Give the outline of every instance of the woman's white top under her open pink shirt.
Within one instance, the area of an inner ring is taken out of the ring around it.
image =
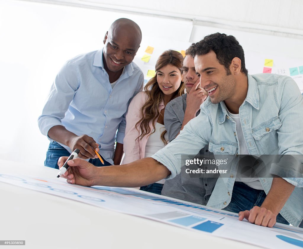
[[[161,134],[165,131],[165,126],[156,123],[155,124],[155,132],[148,136],[148,140],[146,142],[145,146],[145,157],[150,157],[154,155],[158,150],[161,150],[165,147],[165,144],[161,140]],[[164,138],[166,141],[168,141],[168,134],[165,133]],[[157,183],[164,184],[165,180],[162,179],[158,181]]]

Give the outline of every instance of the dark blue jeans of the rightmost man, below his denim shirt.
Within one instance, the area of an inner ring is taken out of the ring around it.
[[[260,207],[266,197],[264,190],[257,190],[248,187],[245,183],[235,182],[232,190],[231,202],[223,210],[239,213],[240,211],[251,210],[254,206]],[[281,214],[278,214],[276,221],[288,224]]]

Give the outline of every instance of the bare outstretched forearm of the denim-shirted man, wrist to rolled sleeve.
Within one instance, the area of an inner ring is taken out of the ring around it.
[[[141,187],[166,178],[171,172],[151,157],[124,164],[99,167],[95,185]]]

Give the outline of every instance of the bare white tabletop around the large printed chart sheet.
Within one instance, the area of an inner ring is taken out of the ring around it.
[[[57,172],[0,160],[0,173],[53,178]],[[0,240],[25,240],[8,248],[260,248],[2,182],[0,200]]]

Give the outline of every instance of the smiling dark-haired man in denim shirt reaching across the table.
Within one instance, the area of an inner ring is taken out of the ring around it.
[[[171,179],[180,173],[182,155],[195,155],[207,144],[211,152],[234,158],[240,152],[298,155],[298,165],[303,163],[303,96],[293,79],[273,74],[248,75],[241,45],[235,37],[225,34],[206,36],[196,44],[194,56],[200,85],[209,98],[175,140],[151,158],[123,166],[96,168],[86,161],[73,160],[68,164],[76,168],[70,167],[64,175],[68,183],[137,187],[165,177]],[[65,160],[61,158],[59,164]],[[218,178],[208,206],[240,208],[239,219],[257,225],[272,227],[278,216],[281,222],[285,218],[299,226],[303,219],[302,173],[298,168],[288,168],[287,162],[272,164],[270,172],[276,177],[236,182],[237,168],[231,167],[228,177]],[[244,208],[239,205],[241,195],[246,195],[243,189],[249,192]]]

